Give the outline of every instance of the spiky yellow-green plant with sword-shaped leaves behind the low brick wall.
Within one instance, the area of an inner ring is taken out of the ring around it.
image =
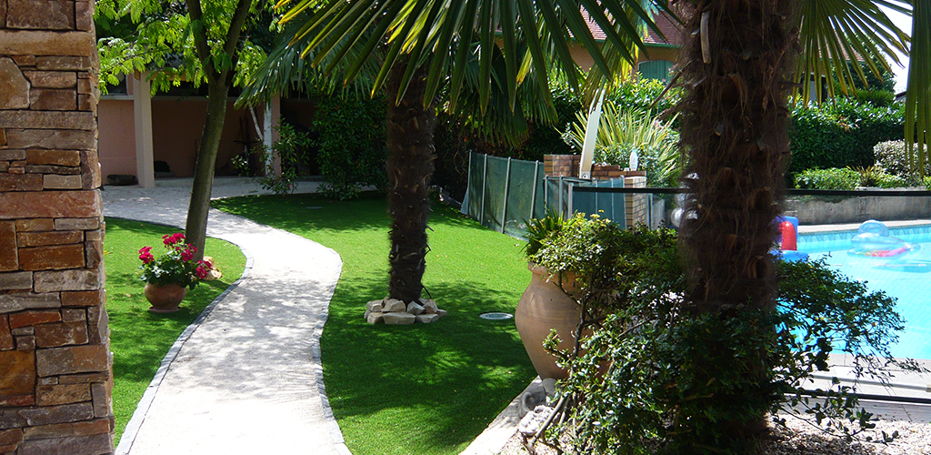
[[[563,136],[576,152],[582,151],[587,124],[588,113],[579,111],[572,129]],[[606,101],[593,162],[627,167],[636,151],[639,169],[646,171],[648,186],[676,186],[682,161],[678,143],[679,133],[672,130],[671,121],[664,123],[649,111],[620,108]]]

